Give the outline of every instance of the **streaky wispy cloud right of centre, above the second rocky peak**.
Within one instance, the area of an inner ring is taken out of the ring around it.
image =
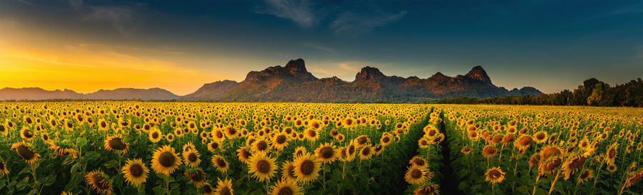
[[[336,34],[352,33],[361,34],[371,31],[373,28],[384,26],[404,17],[407,11],[397,14],[357,14],[354,11],[347,11],[339,14],[331,24]]]

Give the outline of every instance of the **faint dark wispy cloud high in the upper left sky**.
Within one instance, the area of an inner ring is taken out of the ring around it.
[[[134,11],[128,6],[92,6],[92,11],[83,17],[83,21],[109,22],[125,36],[136,31]]]

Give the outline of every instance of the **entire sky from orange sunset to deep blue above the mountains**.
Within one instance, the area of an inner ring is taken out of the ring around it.
[[[204,83],[303,58],[317,78],[464,75],[574,89],[643,76],[643,1],[0,0],[0,88]]]

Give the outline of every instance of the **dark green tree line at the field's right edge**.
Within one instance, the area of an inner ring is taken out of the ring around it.
[[[435,100],[432,103],[643,107],[643,80],[637,78],[612,87],[596,78],[590,78],[574,90],[562,90],[559,93],[489,98],[459,97]]]

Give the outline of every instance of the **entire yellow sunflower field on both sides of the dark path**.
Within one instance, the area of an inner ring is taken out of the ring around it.
[[[642,113],[1,102],[0,194],[641,194]]]

